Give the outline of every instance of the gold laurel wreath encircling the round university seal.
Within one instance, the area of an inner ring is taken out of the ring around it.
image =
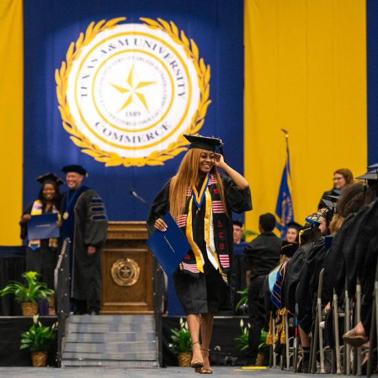
[[[130,166],[162,166],[164,162],[168,159],[172,159],[179,153],[187,151],[188,141],[184,136],[180,136],[176,142],[168,145],[165,151],[154,151],[147,157],[122,157],[118,153],[112,153],[107,151],[102,151],[97,144],[91,143],[91,141],[83,135],[76,126],[76,122],[71,115],[69,110],[69,104],[67,102],[67,85],[69,73],[71,72],[72,65],[75,60],[80,56],[82,47],[88,45],[95,36],[104,31],[115,27],[120,21],[126,20],[126,17],[118,17],[116,19],[111,19],[109,21],[101,20],[98,23],[91,22],[84,33],[80,33],[77,41],[71,42],[66,54],[66,61],[62,62],[60,69],[55,70],[55,81],[56,81],[56,97],[58,99],[58,109],[60,111],[60,116],[62,118],[63,128],[71,136],[69,137],[76,146],[82,148],[81,152],[93,157],[98,162],[102,162],[105,166],[120,166],[125,167]],[[199,49],[196,43],[190,38],[186,37],[183,30],[179,32],[177,26],[173,21],[170,23],[164,21],[163,19],[153,19],[140,18],[144,21],[144,25],[147,25],[151,29],[159,29],[166,32],[176,43],[181,44],[184,47],[186,56],[192,63],[197,71],[197,78],[200,90],[199,103],[197,111],[195,111],[190,122],[190,126],[186,129],[187,134],[198,133],[199,129],[203,126],[205,122],[205,115],[208,110],[208,106],[211,103],[209,100],[210,95],[210,65],[205,65],[203,58],[199,58]]]

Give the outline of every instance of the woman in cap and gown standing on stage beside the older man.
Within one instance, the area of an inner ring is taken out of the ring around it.
[[[36,179],[41,186],[38,199],[27,207],[21,217],[21,238],[27,238],[27,222],[32,215],[45,213],[58,214],[57,225],[60,227],[60,193],[59,186],[63,181],[53,173],[47,173]],[[26,249],[26,271],[36,271],[41,274],[41,280],[50,289],[54,289],[54,269],[58,258],[58,238],[28,240]],[[53,297],[50,298],[49,315],[54,315]]]

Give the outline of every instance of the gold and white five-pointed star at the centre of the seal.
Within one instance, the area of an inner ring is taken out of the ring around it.
[[[126,101],[124,102],[124,104],[118,111],[125,109],[130,104],[135,104],[137,107],[143,107],[149,113],[148,105],[146,102],[146,98],[144,97],[143,91],[146,87],[153,84],[156,84],[156,82],[155,81],[140,81],[138,78],[135,66],[132,65],[129,71],[129,75],[127,76],[125,87],[121,87],[120,85],[115,85],[113,83],[110,83],[110,85],[114,87],[115,89],[117,89],[120,93],[122,94],[127,93]]]

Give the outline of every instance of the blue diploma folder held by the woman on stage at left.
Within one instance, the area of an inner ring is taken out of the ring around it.
[[[56,225],[58,214],[49,212],[41,215],[32,215],[27,222],[27,239],[39,240],[59,237],[59,227]]]

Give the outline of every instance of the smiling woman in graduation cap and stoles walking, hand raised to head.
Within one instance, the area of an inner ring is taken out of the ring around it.
[[[162,217],[169,211],[188,238],[191,249],[173,280],[187,316],[191,365],[199,373],[211,374],[209,346],[214,313],[221,308],[232,309],[231,214],[252,210],[252,201],[247,180],[214,152],[216,146],[222,146],[221,140],[184,136],[190,142],[189,151],[177,174],[157,194],[147,224],[150,232],[154,228],[164,232],[166,223]]]

